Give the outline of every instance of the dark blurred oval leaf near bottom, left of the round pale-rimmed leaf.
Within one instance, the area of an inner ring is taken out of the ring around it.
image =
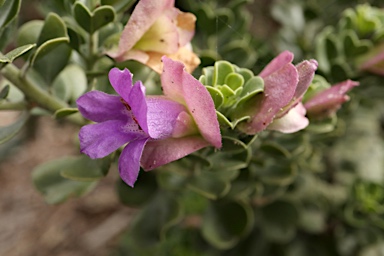
[[[156,193],[131,222],[133,243],[142,248],[156,246],[165,239],[168,229],[181,221],[182,215],[180,203],[173,195]]]

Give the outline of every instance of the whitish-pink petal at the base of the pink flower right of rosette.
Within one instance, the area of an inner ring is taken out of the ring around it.
[[[308,119],[305,117],[305,112],[303,104],[299,103],[285,116],[274,119],[267,129],[282,133],[294,133],[300,131],[309,124]]]

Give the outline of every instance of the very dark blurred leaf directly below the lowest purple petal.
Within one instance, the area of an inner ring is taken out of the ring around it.
[[[152,172],[141,171],[135,183],[130,187],[121,179],[116,184],[120,202],[129,207],[144,206],[158,191],[156,176]]]

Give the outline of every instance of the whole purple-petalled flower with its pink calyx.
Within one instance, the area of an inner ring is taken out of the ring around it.
[[[113,68],[109,80],[118,95],[91,91],[77,100],[83,126],[80,150],[102,158],[127,144],[119,158],[121,178],[133,186],[140,170],[152,170],[203,147],[221,147],[212,98],[184,66],[168,58],[161,76],[165,96],[145,96],[129,70]],[[188,97],[186,97],[188,96]]]

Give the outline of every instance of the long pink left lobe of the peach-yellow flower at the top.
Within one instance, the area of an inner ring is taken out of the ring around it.
[[[164,13],[174,6],[174,0],[141,0],[124,27],[119,42],[119,55],[129,51]]]

